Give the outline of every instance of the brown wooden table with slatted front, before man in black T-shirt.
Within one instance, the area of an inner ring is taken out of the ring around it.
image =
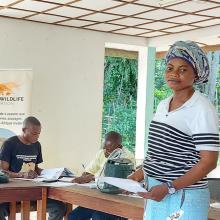
[[[46,220],[47,188],[31,181],[10,180],[0,184],[0,203],[10,202],[9,220],[16,219],[16,201],[21,202],[21,219],[30,218],[30,201],[37,200],[37,219]]]

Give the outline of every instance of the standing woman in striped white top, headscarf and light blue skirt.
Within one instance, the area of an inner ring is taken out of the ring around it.
[[[191,41],[178,41],[166,55],[165,80],[173,95],[150,124],[144,173],[148,184],[144,220],[207,220],[206,175],[217,165],[219,119],[194,84],[205,83],[209,64]]]

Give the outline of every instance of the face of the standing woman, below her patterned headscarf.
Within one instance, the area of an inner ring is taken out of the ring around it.
[[[196,79],[194,69],[183,59],[174,58],[167,64],[165,81],[174,91],[192,88]]]

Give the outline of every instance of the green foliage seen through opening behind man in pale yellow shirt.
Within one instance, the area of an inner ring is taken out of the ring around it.
[[[117,131],[134,152],[136,131],[137,60],[105,57],[102,135]]]

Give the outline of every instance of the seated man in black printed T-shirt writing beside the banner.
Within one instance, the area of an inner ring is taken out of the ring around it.
[[[35,117],[28,117],[23,122],[22,134],[7,139],[0,151],[0,167],[12,178],[35,178],[42,169],[38,167],[43,162],[41,145],[38,138],[41,124]],[[62,220],[66,212],[64,203],[48,199],[48,220]],[[0,204],[0,219],[4,220],[9,214],[9,204]]]

